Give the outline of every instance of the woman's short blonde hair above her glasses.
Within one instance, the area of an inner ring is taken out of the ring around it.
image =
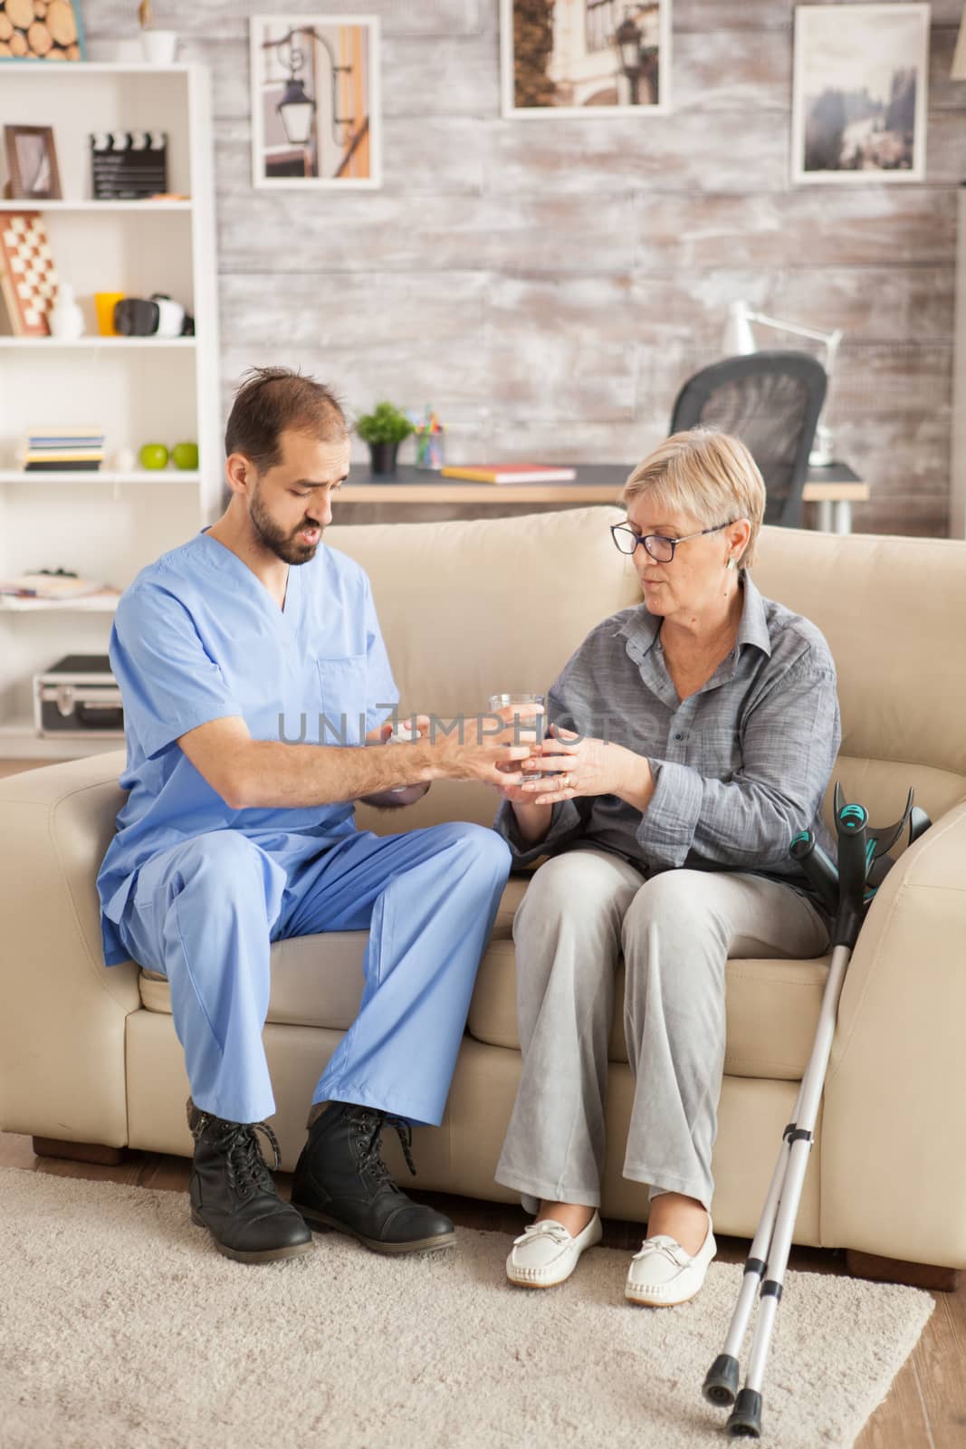
[[[765,481],[743,442],[711,427],[672,433],[639,462],[624,484],[621,501],[650,494],[669,511],[689,513],[702,527],[747,519],[752,536],[739,559],[755,562],[755,543],[765,517]]]

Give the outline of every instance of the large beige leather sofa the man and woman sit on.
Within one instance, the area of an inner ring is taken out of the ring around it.
[[[545,688],[600,619],[639,601],[614,509],[333,527],[368,569],[406,710],[452,716],[495,690]],[[839,665],[837,777],[873,823],[908,785],[934,820],[869,911],[844,985],[801,1243],[966,1264],[966,543],[766,529],[756,581],[811,617]],[[101,959],[94,877],[122,801],[117,752],[0,782],[0,1127],[188,1155],[187,1078],[164,978]],[[398,830],[491,823],[484,787],[434,785]],[[492,1172],[520,1072],[511,878],[485,953],[442,1129],[416,1133],[419,1184],[511,1200]],[[272,951],[265,1026],[284,1166],[361,994],[365,933]],[[827,958],[733,961],[714,1155],[715,1227],[750,1236],[795,1100]],[[611,1039],[604,1208],[646,1216],[621,1178],[631,1077]],[[390,1148],[390,1151],[395,1151]],[[401,1164],[394,1159],[401,1171]]]

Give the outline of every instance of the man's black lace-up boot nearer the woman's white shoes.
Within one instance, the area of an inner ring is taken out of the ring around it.
[[[382,1127],[395,1127],[410,1172],[413,1129],[401,1117],[371,1107],[333,1101],[310,1117],[308,1142],[295,1164],[293,1207],[310,1227],[352,1233],[377,1253],[450,1248],[453,1224],[432,1207],[414,1203],[395,1185],[379,1155]]]

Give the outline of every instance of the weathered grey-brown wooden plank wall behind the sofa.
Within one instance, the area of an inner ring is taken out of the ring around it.
[[[214,77],[226,400],[284,362],[355,412],[432,401],[453,459],[633,462],[746,297],[846,333],[856,527],[947,532],[962,0],[933,4],[927,183],[794,190],[792,0],[675,0],[673,114],[556,122],[500,117],[497,0],[326,0],[382,17],[385,184],[355,196],[251,187],[248,13],[291,6],[154,9]],[[94,39],[132,13],[84,0]]]

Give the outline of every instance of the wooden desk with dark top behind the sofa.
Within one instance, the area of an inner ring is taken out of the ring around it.
[[[617,503],[631,471],[631,465],[575,464],[572,483],[469,483],[461,478],[440,478],[423,468],[401,465],[394,478],[374,478],[365,469],[353,469],[339,490],[339,503],[474,503],[500,507],[510,503],[555,503],[575,507],[582,503]],[[826,532],[852,532],[852,504],[869,497],[869,485],[846,464],[810,468],[805,503],[817,503],[818,526]],[[836,510],[833,513],[833,509]]]

